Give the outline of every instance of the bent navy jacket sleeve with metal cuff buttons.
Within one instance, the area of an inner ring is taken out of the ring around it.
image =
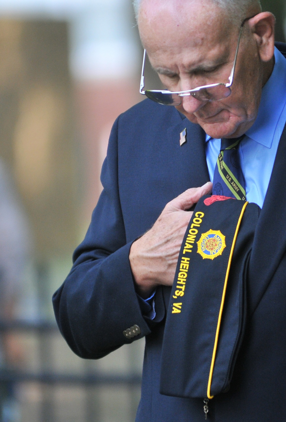
[[[117,177],[118,119],[101,172],[104,190],[84,241],[74,252],[71,272],[53,295],[57,324],[68,345],[79,356],[93,359],[149,334],[156,322],[144,317],[151,306],[136,295],[129,264],[132,242],[126,244]],[[160,305],[161,289],[156,296]],[[157,321],[164,313],[159,308]],[[123,331],[133,325],[141,333],[128,339]]]

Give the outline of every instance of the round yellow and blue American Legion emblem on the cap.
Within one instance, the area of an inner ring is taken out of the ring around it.
[[[223,253],[226,247],[226,237],[220,230],[209,230],[202,233],[201,238],[197,242],[198,254],[204,259],[214,260]]]

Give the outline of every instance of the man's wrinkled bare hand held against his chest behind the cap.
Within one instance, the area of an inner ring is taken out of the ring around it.
[[[153,227],[132,244],[129,260],[142,298],[160,284],[172,286],[181,244],[193,214],[185,210],[211,191],[211,182],[187,189],[167,203]]]

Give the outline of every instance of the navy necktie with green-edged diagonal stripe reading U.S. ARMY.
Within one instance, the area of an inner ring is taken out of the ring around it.
[[[228,196],[245,201],[245,180],[238,155],[238,146],[242,138],[244,135],[240,138],[221,139],[221,151],[218,154],[213,176],[213,195]]]

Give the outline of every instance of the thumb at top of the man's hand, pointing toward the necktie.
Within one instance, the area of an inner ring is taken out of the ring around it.
[[[181,193],[181,195],[177,196],[172,201],[167,203],[164,209],[164,212],[188,210],[189,208],[193,206],[193,204],[196,204],[202,196],[211,192],[212,192],[212,182],[207,182],[201,187],[194,187],[191,189],[187,189],[185,192]]]

